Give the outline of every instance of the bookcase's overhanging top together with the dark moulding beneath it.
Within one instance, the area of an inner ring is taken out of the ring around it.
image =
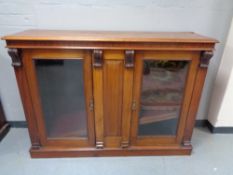
[[[218,41],[193,32],[26,30],[5,36],[8,48],[213,50]]]

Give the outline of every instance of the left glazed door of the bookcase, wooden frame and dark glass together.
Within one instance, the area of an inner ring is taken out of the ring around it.
[[[42,146],[94,146],[91,52],[37,49],[23,56]]]

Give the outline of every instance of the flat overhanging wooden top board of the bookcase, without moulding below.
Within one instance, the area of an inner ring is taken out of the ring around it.
[[[75,30],[25,30],[2,37],[22,41],[100,41],[100,42],[177,42],[217,43],[213,38],[194,32],[123,32]]]

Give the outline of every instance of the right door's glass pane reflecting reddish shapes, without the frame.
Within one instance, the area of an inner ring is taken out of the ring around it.
[[[176,135],[188,61],[145,60],[139,136]]]

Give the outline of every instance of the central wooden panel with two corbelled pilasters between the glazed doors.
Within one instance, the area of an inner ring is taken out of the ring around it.
[[[97,148],[129,146],[133,51],[95,50],[93,80]]]

